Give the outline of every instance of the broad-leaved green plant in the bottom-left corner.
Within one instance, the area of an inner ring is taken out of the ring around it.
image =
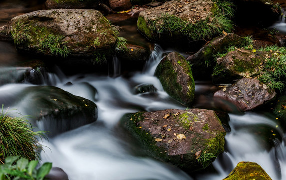
[[[26,158],[19,158],[19,156],[10,156],[5,159],[5,164],[0,165],[0,179],[30,179],[43,180],[49,173],[52,164],[44,163],[41,167],[36,169],[38,161],[29,161]]]

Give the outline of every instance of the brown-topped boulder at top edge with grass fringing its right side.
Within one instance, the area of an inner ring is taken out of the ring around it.
[[[139,14],[137,28],[154,41],[185,42],[231,32],[233,4],[226,0],[165,2]]]

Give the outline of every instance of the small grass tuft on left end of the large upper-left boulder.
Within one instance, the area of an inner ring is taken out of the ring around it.
[[[12,28],[11,34],[14,39],[14,43],[17,45],[31,39],[29,27],[25,26],[21,21],[18,21],[16,26]]]

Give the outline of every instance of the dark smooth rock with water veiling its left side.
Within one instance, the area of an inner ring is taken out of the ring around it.
[[[97,120],[97,106],[92,101],[53,86],[27,87],[20,94],[24,111],[41,130],[54,136]]]

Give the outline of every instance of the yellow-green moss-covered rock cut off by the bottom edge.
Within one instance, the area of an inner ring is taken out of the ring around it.
[[[255,162],[239,162],[237,166],[230,172],[230,174],[223,180],[271,180],[270,176],[265,170]]]

